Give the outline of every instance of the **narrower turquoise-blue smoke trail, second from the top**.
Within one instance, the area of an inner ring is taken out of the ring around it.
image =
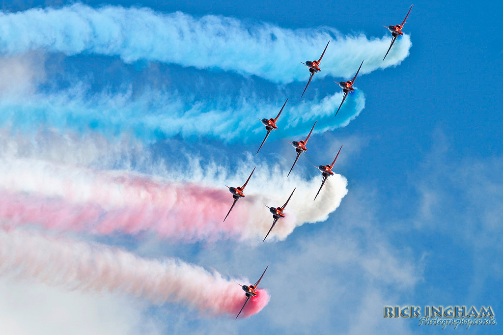
[[[81,134],[97,132],[108,138],[130,134],[144,143],[175,136],[249,143],[265,136],[264,126],[257,118],[276,117],[286,99],[272,103],[250,97],[195,100],[159,91],[139,97],[133,97],[131,92],[88,97],[86,92],[85,88],[74,88],[28,99],[0,99],[0,125],[32,133],[56,128]],[[365,97],[357,91],[335,118],[341,100],[342,92],[319,101],[289,101],[274,136],[303,136],[316,119],[315,133],[346,126],[365,107]]]

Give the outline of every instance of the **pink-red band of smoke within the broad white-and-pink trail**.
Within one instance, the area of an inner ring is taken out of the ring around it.
[[[228,210],[229,198],[232,199],[230,193],[198,189],[197,192],[209,192],[195,197],[187,193],[187,189],[194,186],[184,188],[185,191],[175,196],[178,201],[172,199],[174,206],[145,202],[110,210],[105,210],[97,202],[78,204],[61,198],[0,192],[0,218],[15,225],[40,224],[46,228],[98,234],[115,231],[137,234],[149,230],[157,232],[160,237],[186,241],[240,237],[245,230],[244,222],[221,220],[222,213]],[[246,211],[248,206],[244,204],[242,207],[236,208],[237,215]]]

